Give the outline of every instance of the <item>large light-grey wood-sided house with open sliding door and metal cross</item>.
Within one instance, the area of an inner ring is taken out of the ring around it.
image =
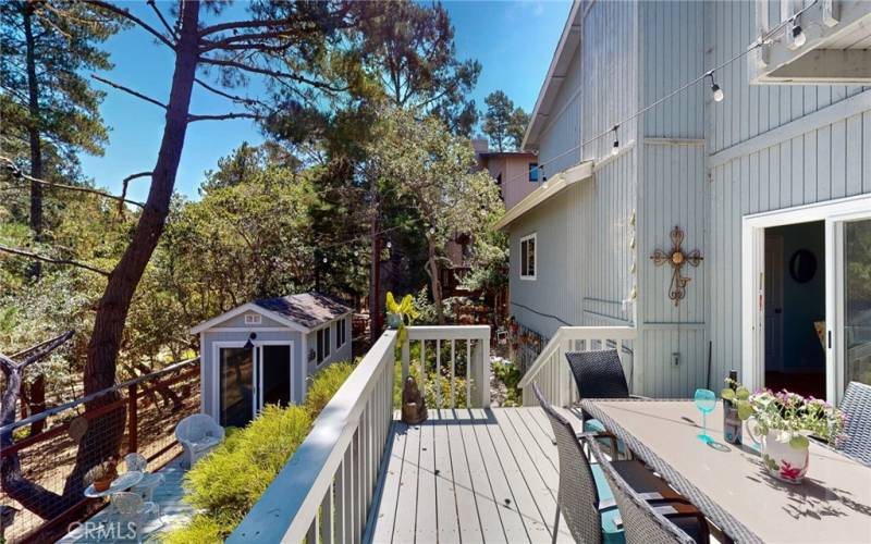
[[[524,141],[547,183],[499,225],[523,326],[636,327],[651,396],[871,381],[871,2],[805,3],[573,5]]]

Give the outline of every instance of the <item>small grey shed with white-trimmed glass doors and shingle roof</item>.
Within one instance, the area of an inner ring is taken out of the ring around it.
[[[199,335],[201,411],[244,426],[267,404],[300,404],[308,376],[351,360],[352,308],[318,293],[255,300],[191,330]]]

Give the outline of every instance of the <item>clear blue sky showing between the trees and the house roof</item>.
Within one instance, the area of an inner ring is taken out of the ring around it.
[[[154,18],[145,2],[130,2],[127,5],[146,21]],[[444,2],[444,5],[455,27],[457,55],[478,59],[483,66],[473,96],[479,110],[483,108],[483,97],[502,89],[515,104],[531,111],[571,2],[455,0]],[[155,45],[137,28],[112,37],[106,47],[115,67],[100,75],[165,101],[173,63],[167,48]],[[101,86],[96,82],[95,85]],[[224,113],[231,110],[225,100],[201,89],[195,90],[192,112]],[[160,145],[162,111],[108,89],[101,113],[111,127],[106,153],[103,157],[83,156],[82,164],[85,174],[98,186],[119,193],[124,176],[154,168]],[[257,126],[249,121],[192,123],[187,129],[176,190],[197,198],[203,173],[214,169],[218,159],[243,140],[255,144],[262,140]],[[146,194],[147,178],[132,182],[132,198],[144,199]]]

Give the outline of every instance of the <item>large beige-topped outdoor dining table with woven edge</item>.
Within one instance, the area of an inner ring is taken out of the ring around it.
[[[697,436],[692,400],[581,400],[581,409],[735,542],[871,542],[871,468],[826,446],[810,446],[801,484],[765,472],[745,432],[723,440],[723,407],[708,415],[707,444]]]

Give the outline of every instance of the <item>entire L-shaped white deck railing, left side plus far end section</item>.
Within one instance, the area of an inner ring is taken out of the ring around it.
[[[413,343],[421,343],[421,361],[427,344],[434,345],[439,372],[450,379],[445,382],[450,390],[438,404],[453,407],[459,396],[454,380],[456,354],[465,348],[466,357],[459,361],[466,362],[467,375],[473,378],[467,398],[473,407],[489,405],[489,326],[407,330],[408,338],[401,346],[404,375],[409,371]],[[396,336],[395,331],[387,331],[366,354],[229,543],[365,541],[385,466],[382,461],[394,409],[398,408],[393,405]],[[441,346],[446,342],[451,343],[451,356],[442,362]]]

